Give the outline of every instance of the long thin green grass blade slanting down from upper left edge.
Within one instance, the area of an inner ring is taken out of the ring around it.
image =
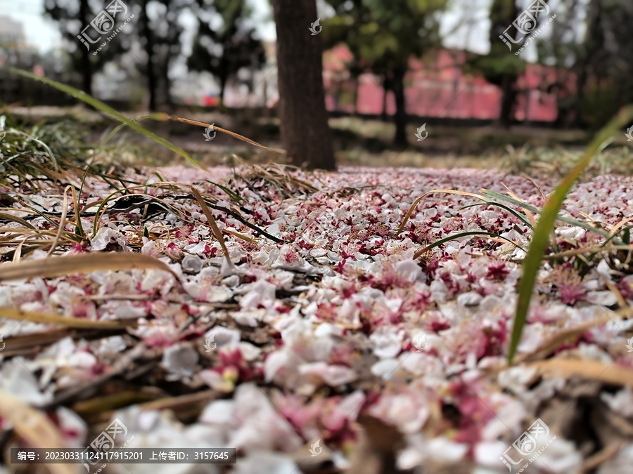
[[[74,87],[68,86],[66,84],[62,84],[62,83],[60,83],[58,81],[53,81],[52,79],[48,79],[47,77],[39,77],[39,76],[36,76],[35,74],[32,74],[30,72],[23,71],[23,70],[20,70],[20,69],[16,69],[15,67],[4,67],[4,68],[0,68],[0,69],[6,69],[6,70],[8,70],[10,72],[13,72],[15,74],[20,74],[20,76],[26,77],[27,79],[32,79],[34,81],[43,82],[44,84],[48,84],[49,86],[52,86],[52,87],[58,89],[58,91],[62,91],[62,92],[65,92],[67,94],[70,94],[72,97],[74,97],[76,99],[79,99],[82,102],[87,103],[88,105],[91,105],[96,110],[99,110],[99,111],[103,112],[104,114],[110,115],[110,117],[113,117],[113,119],[117,119],[122,124],[125,124],[125,125],[129,126],[130,129],[132,129],[134,131],[137,131],[137,132],[141,133],[142,135],[146,136],[147,138],[151,138],[151,140],[154,140],[156,143],[160,143],[160,145],[163,145],[163,146],[169,148],[170,150],[172,150],[172,152],[176,152],[181,157],[184,157],[184,158],[188,159],[189,162],[191,162],[191,163],[195,164],[196,166],[198,166],[198,168],[202,168],[202,166],[200,166],[200,164],[195,159],[190,157],[189,154],[185,150],[183,150],[181,147],[177,147],[176,145],[174,145],[170,141],[165,140],[165,138],[159,137],[155,133],[153,133],[153,132],[149,131],[148,129],[144,128],[143,126],[137,124],[134,120],[130,120],[127,117],[124,117],[124,115],[122,115],[120,112],[117,112],[117,110],[113,109],[113,107],[110,107],[109,105],[104,104],[103,102],[101,102],[101,100],[98,100],[98,99],[96,99],[94,97],[89,96],[84,91],[79,91],[79,89],[76,89]],[[168,116],[165,115],[164,118],[167,119]]]

